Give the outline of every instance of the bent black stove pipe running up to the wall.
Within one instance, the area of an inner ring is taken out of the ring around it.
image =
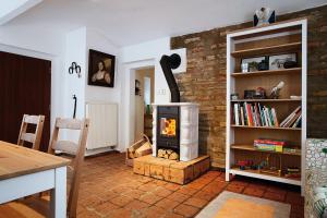
[[[171,56],[162,56],[160,59],[160,65],[171,93],[171,102],[180,102],[180,89],[171,71],[171,69],[179,68],[180,64],[181,57],[177,53]]]

